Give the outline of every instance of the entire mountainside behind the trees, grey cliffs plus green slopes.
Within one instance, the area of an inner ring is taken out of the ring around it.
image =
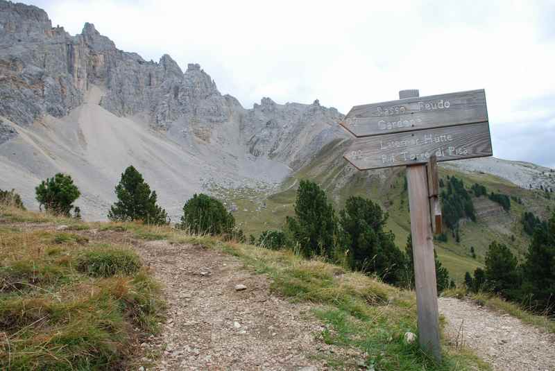
[[[15,188],[32,209],[37,184],[63,172],[82,193],[76,205],[84,218],[105,219],[115,184],[133,164],[173,221],[203,191],[233,209],[246,234],[257,234],[283,226],[298,181],[309,178],[336,209],[353,195],[378,202],[403,246],[410,231],[404,171],[350,166],[343,154],[352,138],[341,119],[317,99],[278,104],[264,97],[246,109],[198,64],[183,72],[167,54],[146,61],[117,49],[93,24],[69,35],[44,10],[0,0],[0,189]],[[555,189],[552,169],[488,157],[441,164],[440,176],[452,175],[513,200],[507,212],[475,198],[477,222],[461,221],[461,242],[436,241],[458,280],[483,265],[493,240],[522,257],[529,243],[522,214],[546,218],[555,209],[545,191]]]

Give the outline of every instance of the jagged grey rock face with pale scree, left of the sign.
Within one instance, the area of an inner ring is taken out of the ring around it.
[[[198,64],[184,73],[169,55],[146,61],[93,24],[69,35],[44,10],[4,0],[0,97],[0,188],[19,188],[33,205],[38,180],[71,173],[88,218],[105,216],[129,164],[178,214],[178,204],[214,184],[273,187],[346,137],[342,115],[317,100],[262,98],[245,109]]]

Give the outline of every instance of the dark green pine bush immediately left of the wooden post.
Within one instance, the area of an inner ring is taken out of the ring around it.
[[[352,270],[375,273],[400,284],[407,263],[392,232],[384,232],[388,214],[371,200],[350,197],[339,213],[339,241]]]

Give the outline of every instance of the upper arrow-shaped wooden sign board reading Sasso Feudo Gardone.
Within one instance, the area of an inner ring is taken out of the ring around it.
[[[484,89],[355,105],[341,125],[355,137],[488,121]]]

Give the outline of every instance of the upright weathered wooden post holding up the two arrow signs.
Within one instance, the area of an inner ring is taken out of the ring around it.
[[[399,92],[400,99],[413,97],[418,97],[418,90]],[[422,350],[431,354],[439,362],[441,361],[441,347],[439,344],[438,293],[426,165],[407,166],[407,183],[411,208],[418,340]]]

